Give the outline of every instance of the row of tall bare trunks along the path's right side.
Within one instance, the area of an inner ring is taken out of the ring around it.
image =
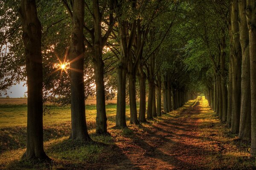
[[[217,38],[218,54],[209,49],[214,74],[207,82],[207,99],[232,133],[238,133],[239,139],[251,140],[250,151],[255,156],[256,2],[231,0],[226,3],[228,6],[223,4],[212,12],[223,18],[224,27],[213,33]],[[208,43],[209,39],[205,39]]]

